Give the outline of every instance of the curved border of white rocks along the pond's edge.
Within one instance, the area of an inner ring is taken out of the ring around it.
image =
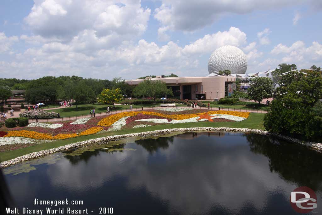
[[[278,137],[280,139],[283,139],[283,140],[286,140],[286,141],[289,141],[289,142],[298,143],[298,144],[307,146],[307,147],[309,147],[309,148],[311,148],[313,150],[322,152],[322,143],[300,141],[300,140],[298,140],[296,138],[291,138],[291,137],[287,137],[287,136],[284,136],[284,135],[274,134],[274,133],[270,133],[270,132],[259,130],[259,129],[225,128],[225,127],[220,127],[220,128],[213,128],[213,127],[172,128],[172,129],[162,129],[162,130],[149,131],[149,132],[138,132],[138,133],[130,133],[130,134],[112,135],[112,136],[107,136],[107,137],[100,137],[100,138],[96,138],[96,139],[91,139],[91,140],[71,143],[71,144],[60,146],[60,147],[53,148],[53,149],[32,152],[32,153],[29,153],[29,154],[26,154],[26,155],[11,159],[9,161],[3,161],[3,162],[0,163],[0,167],[1,168],[9,167],[9,166],[12,166],[14,164],[20,163],[22,161],[28,161],[28,160],[43,157],[45,155],[52,154],[52,153],[55,153],[55,152],[65,151],[65,150],[68,150],[68,149],[72,149],[72,148],[76,148],[76,147],[79,147],[79,146],[92,144],[92,143],[115,141],[115,140],[119,140],[119,139],[122,139],[122,138],[133,137],[133,136],[148,137],[148,136],[164,135],[164,134],[168,134],[170,132],[197,132],[197,131],[205,131],[205,132],[207,132],[207,131],[209,131],[209,132],[244,132],[244,133],[252,132],[252,133],[257,133],[257,134],[262,134],[262,135],[272,135],[272,136]]]

